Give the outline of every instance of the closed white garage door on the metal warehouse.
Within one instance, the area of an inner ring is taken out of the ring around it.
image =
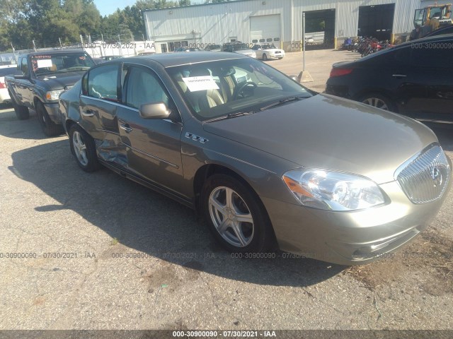
[[[280,41],[281,31],[280,14],[250,17],[250,35],[252,42]]]

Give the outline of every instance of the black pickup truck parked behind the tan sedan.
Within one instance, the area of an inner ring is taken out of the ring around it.
[[[58,97],[94,64],[93,59],[83,51],[44,51],[21,55],[17,69],[22,74],[5,77],[18,119],[28,119],[28,109],[35,109],[42,131],[47,136],[62,133]]]

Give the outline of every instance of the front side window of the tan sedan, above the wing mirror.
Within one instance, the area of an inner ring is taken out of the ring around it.
[[[141,105],[164,102],[168,107],[168,95],[159,78],[141,67],[127,67],[123,102],[129,107],[139,109]]]

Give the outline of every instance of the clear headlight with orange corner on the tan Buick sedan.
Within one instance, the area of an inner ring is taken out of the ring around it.
[[[295,169],[283,181],[302,205],[322,210],[362,210],[385,203],[377,184],[352,174]]]

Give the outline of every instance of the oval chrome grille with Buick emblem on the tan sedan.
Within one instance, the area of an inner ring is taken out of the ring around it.
[[[447,189],[449,162],[440,145],[430,145],[415,159],[406,162],[396,179],[413,203],[430,203]]]

